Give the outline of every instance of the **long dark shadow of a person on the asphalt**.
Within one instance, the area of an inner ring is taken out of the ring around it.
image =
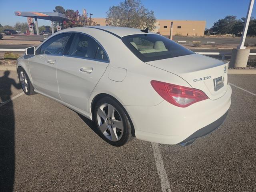
[[[0,99],[4,103],[11,99],[14,86],[21,89],[20,84],[9,78],[5,71],[0,77]],[[0,103],[1,104],[1,103]],[[14,187],[15,173],[15,118],[13,103],[10,100],[0,108],[0,191],[11,192]]]

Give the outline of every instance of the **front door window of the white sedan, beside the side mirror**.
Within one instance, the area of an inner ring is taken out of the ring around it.
[[[40,54],[63,55],[64,48],[71,33],[62,33],[53,36],[40,47]]]

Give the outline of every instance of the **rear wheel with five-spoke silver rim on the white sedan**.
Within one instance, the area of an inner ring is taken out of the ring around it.
[[[99,135],[110,145],[123,146],[132,139],[132,126],[128,115],[123,106],[114,99],[104,97],[98,100],[93,116]]]

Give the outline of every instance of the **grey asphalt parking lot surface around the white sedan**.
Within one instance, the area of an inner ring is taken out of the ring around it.
[[[158,144],[166,191],[256,190],[256,75],[228,81],[244,90],[232,86],[216,131],[184,148]],[[0,104],[0,191],[162,191],[152,143],[110,146],[90,120],[39,94],[20,94],[17,82],[16,72],[0,71],[0,102],[14,98]]]

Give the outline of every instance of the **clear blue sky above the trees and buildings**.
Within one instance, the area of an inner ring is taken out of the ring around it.
[[[15,16],[14,11],[53,12],[55,6],[65,9],[86,9],[92,17],[106,17],[111,6],[124,0],[0,0],[0,24],[14,26],[16,22],[26,22],[26,17]],[[206,28],[227,15],[246,17],[250,0],[141,0],[142,4],[153,10],[156,19],[206,20]],[[252,10],[256,18],[256,3]],[[38,19],[38,25],[50,25],[50,21]]]

